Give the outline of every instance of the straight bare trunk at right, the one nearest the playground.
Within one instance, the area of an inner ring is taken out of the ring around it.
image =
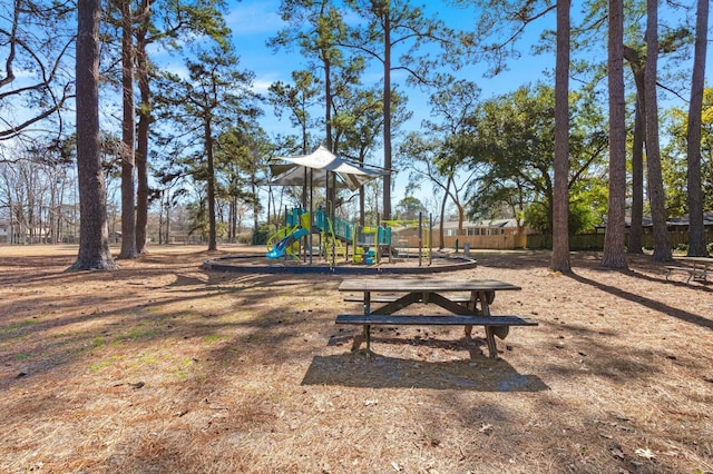
[[[557,68],[555,72],[555,190],[553,255],[555,271],[570,271],[569,263],[569,0],[557,0]]]

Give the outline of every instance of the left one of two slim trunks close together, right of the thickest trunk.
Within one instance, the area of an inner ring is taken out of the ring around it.
[[[134,21],[129,0],[121,3],[121,251],[119,258],[136,258],[136,187],[134,185]]]

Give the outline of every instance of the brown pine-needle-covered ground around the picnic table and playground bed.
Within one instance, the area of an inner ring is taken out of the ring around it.
[[[498,361],[481,328],[384,328],[367,358],[341,277],[201,267],[246,250],[68,274],[76,248],[0,247],[0,472],[713,472],[711,284],[482,253],[438,277],[519,285],[492,312],[538,327]]]

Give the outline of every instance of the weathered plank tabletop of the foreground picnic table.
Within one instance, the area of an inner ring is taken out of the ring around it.
[[[339,286],[340,292],[495,292],[518,290],[519,286],[495,279],[446,279],[446,278],[348,278]]]

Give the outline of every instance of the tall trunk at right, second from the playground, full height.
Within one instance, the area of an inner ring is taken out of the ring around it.
[[[609,0],[609,205],[602,266],[627,268],[624,258],[626,126],[624,98],[624,2]]]

